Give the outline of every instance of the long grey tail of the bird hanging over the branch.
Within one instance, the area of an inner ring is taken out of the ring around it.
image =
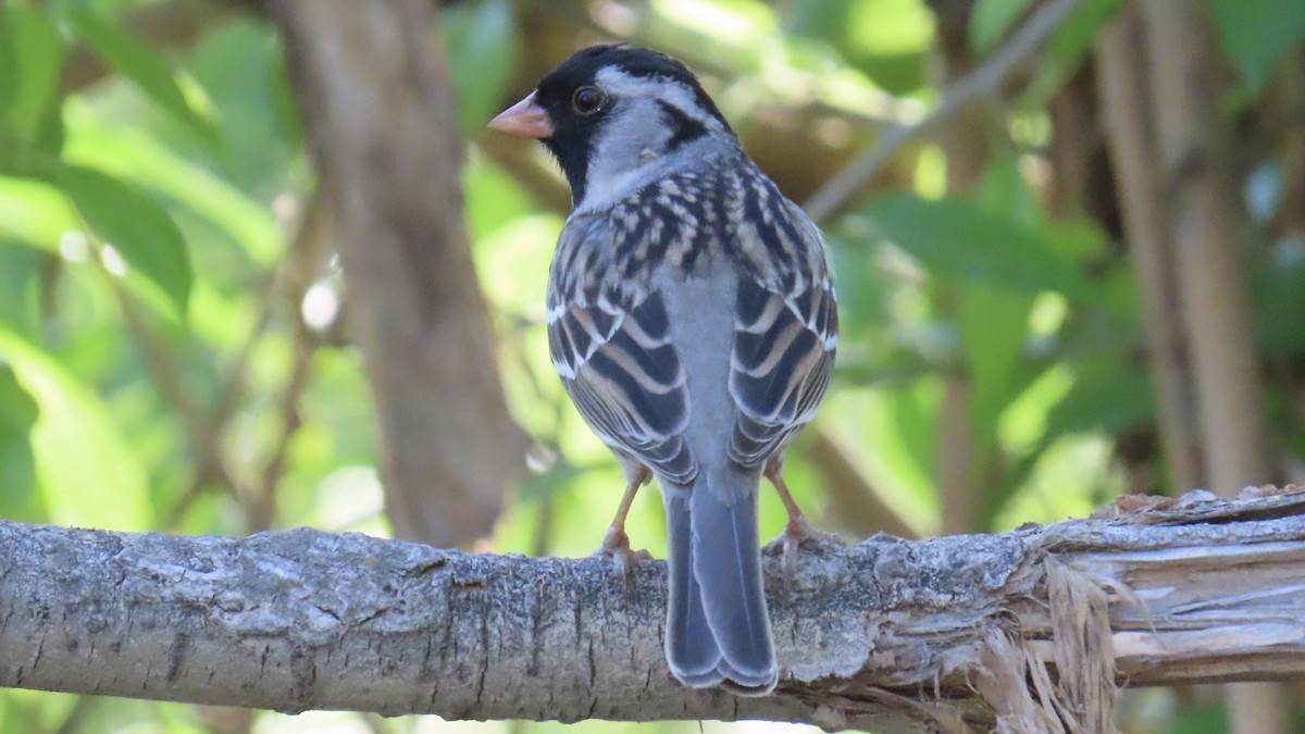
[[[688,491],[662,492],[669,537],[666,657],[686,686],[762,696],[774,690],[779,667],[761,577],[756,482],[707,482],[702,473]]]

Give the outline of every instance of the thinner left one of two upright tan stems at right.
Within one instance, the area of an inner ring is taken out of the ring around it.
[[[1142,25],[1134,5],[1103,29],[1096,44],[1098,88],[1120,189],[1125,240],[1138,273],[1147,358],[1160,407],[1160,440],[1181,494],[1203,485],[1197,400],[1173,269],[1173,246],[1160,205],[1154,111],[1146,80]]]

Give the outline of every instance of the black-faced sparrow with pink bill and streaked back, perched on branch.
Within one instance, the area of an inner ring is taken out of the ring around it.
[[[658,51],[582,48],[488,127],[539,140],[570,185],[545,319],[566,393],[625,473],[602,550],[629,554],[626,512],[656,477],[671,674],[770,694],[757,498],[766,477],[786,543],[812,537],[782,469],[838,347],[821,232],[693,72]]]

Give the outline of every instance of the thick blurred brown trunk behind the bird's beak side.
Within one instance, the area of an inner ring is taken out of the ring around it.
[[[277,0],[334,206],[399,537],[466,546],[493,524],[525,439],[508,417],[462,214],[448,69],[422,0]]]

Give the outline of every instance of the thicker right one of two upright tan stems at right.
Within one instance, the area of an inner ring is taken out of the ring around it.
[[[1156,99],[1161,204],[1171,213],[1208,477],[1228,495],[1270,477],[1248,283],[1236,252],[1241,217],[1216,97],[1218,55],[1203,4],[1146,0],[1141,9]],[[1267,684],[1231,684],[1233,731],[1287,731],[1279,692]]]

